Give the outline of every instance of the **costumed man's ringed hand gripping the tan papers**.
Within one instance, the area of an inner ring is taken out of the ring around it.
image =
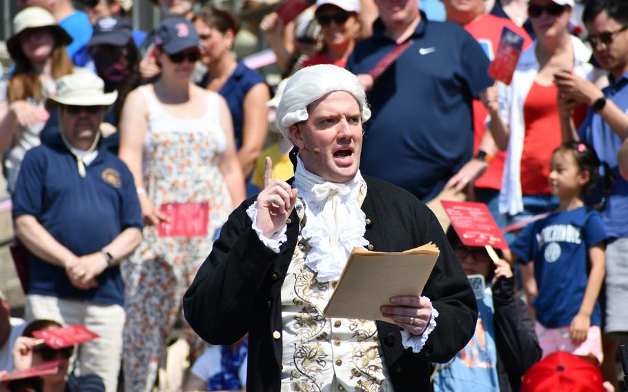
[[[426,297],[392,297],[391,304],[380,308],[382,315],[413,335],[422,335],[432,316],[432,303]]]

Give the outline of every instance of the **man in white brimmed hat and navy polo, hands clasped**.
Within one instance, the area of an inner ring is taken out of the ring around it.
[[[100,335],[78,352],[81,374],[116,391],[122,353],[124,284],[119,262],[141,241],[133,176],[99,144],[117,92],[88,72],[57,81],[54,141],[26,153],[12,195],[15,233],[29,251],[26,319],[84,324]]]

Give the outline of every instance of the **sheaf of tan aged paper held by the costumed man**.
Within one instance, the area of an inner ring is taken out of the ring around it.
[[[380,306],[397,295],[421,295],[439,253],[432,243],[405,252],[353,249],[325,317],[392,322]]]

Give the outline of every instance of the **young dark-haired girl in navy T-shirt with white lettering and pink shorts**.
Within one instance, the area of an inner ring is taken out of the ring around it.
[[[565,351],[602,362],[598,294],[604,280],[608,235],[597,210],[583,197],[598,183],[600,159],[585,143],[570,141],[553,151],[549,186],[559,199],[554,213],[529,224],[511,250],[533,262],[527,285],[543,355]]]

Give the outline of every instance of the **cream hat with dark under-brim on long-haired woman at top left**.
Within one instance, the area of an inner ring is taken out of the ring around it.
[[[48,10],[41,7],[28,7],[18,12],[13,18],[13,35],[6,41],[6,47],[13,59],[21,53],[19,35],[29,28],[50,28],[55,35],[57,45],[70,45],[72,37],[57,24],[55,17]]]

